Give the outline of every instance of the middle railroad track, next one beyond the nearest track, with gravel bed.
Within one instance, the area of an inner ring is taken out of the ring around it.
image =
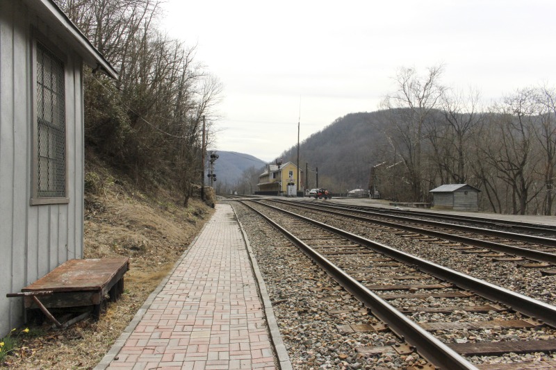
[[[281,201],[265,199],[265,203],[277,203],[283,206],[302,208],[309,212],[325,212],[327,215],[346,217],[357,221],[366,221],[384,227],[384,231],[402,230],[400,236],[411,238],[430,238],[437,244],[460,251],[461,253],[475,253],[496,261],[513,261],[525,268],[543,269],[543,274],[556,274],[556,239],[509,233],[500,230],[490,230],[445,224],[438,221],[409,219],[408,217],[391,216],[385,219],[382,215],[368,210],[353,210],[340,205],[300,203],[299,201]],[[440,242],[441,240],[445,242]],[[448,242],[448,243],[446,243]],[[450,244],[451,243],[451,244]],[[513,245],[512,245],[513,244]],[[492,253],[496,252],[496,253]]]

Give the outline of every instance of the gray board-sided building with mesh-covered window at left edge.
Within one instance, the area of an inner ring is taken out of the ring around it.
[[[117,73],[51,0],[0,0],[0,337],[8,292],[83,258],[83,63]]]

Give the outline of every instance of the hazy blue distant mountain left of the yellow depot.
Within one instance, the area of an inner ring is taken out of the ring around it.
[[[246,169],[255,167],[263,170],[265,161],[253,155],[238,153],[236,151],[215,151],[218,159],[214,162],[214,173],[219,184],[235,184],[242,180],[243,172]],[[209,154],[210,155],[210,152]],[[208,173],[208,165],[206,172]]]

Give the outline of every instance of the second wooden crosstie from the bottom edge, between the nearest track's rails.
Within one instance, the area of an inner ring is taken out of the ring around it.
[[[504,353],[555,352],[556,339],[520,342],[477,342],[449,343],[448,346],[460,355],[497,356]]]

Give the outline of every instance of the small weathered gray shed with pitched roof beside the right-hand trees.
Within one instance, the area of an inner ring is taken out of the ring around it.
[[[471,185],[441,185],[430,192],[433,196],[432,209],[434,210],[479,211],[480,190]]]

